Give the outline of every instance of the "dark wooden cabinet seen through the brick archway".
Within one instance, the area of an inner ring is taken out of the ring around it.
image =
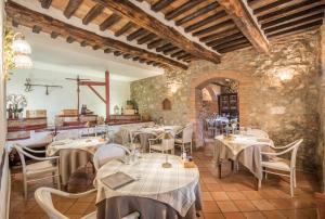
[[[238,116],[238,95],[237,93],[226,93],[219,95],[219,112],[232,117]]]

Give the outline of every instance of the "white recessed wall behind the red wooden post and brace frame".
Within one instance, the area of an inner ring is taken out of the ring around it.
[[[103,73],[104,76],[104,73]],[[63,108],[76,108],[77,86],[75,81],[65,78],[75,78],[76,74],[56,72],[55,69],[20,69],[14,70],[11,80],[6,86],[6,93],[24,94],[27,98],[27,110],[47,110],[48,123],[53,124],[54,116]],[[104,78],[82,76],[93,81],[104,81]],[[46,88],[35,87],[34,91],[25,92],[25,80],[30,78],[32,83],[60,85],[62,89],[50,89],[50,94],[46,95]],[[95,88],[105,98],[104,87]],[[87,104],[88,108],[95,114],[105,117],[105,104],[88,88],[80,88],[80,104]],[[130,82],[110,79],[110,112],[115,105],[123,105],[130,98]],[[25,114],[25,112],[24,112]]]

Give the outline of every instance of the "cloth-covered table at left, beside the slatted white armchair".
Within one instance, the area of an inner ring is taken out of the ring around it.
[[[67,185],[69,177],[80,167],[92,162],[96,149],[107,143],[100,137],[65,139],[53,141],[47,146],[47,156],[60,156],[61,182]]]

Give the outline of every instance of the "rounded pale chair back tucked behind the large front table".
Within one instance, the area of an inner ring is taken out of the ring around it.
[[[102,145],[93,155],[93,166],[98,170],[107,162],[115,158],[123,157],[127,154],[130,154],[130,151],[123,145],[113,143]]]

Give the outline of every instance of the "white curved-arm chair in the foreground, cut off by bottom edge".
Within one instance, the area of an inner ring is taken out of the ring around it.
[[[63,215],[57,209],[55,209],[52,201],[52,194],[55,194],[61,197],[67,197],[67,198],[82,198],[95,192],[96,190],[90,190],[79,194],[72,194],[72,193],[54,190],[51,188],[39,188],[35,192],[35,199],[37,204],[46,211],[46,214],[49,216],[50,219],[69,219],[67,216]],[[140,214],[138,211],[134,211],[123,217],[122,219],[136,219],[139,217]],[[96,211],[93,211],[88,214],[87,216],[81,217],[80,219],[95,219],[95,218],[96,218]]]

